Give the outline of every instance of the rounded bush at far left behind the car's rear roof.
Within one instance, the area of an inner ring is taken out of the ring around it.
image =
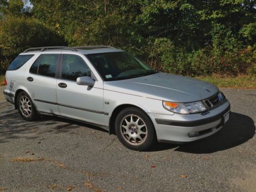
[[[0,21],[0,26],[0,73],[27,48],[66,44],[34,18],[8,16]]]

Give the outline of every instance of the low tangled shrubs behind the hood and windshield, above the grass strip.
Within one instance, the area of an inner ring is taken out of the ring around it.
[[[147,63],[152,68],[166,73],[190,76],[255,74],[256,51],[250,46],[232,50],[207,46],[188,52],[176,47],[167,38],[158,38],[154,43],[150,43],[146,50],[149,55]]]

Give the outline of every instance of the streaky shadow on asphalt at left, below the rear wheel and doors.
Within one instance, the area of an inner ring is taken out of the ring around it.
[[[3,103],[2,105],[3,106]],[[0,112],[0,143],[10,142],[13,139],[39,139],[44,133],[74,133],[79,127],[88,127],[94,130],[107,132],[98,126],[61,117],[43,115],[34,121],[25,121],[20,117],[12,105]],[[33,136],[31,135],[33,134]]]

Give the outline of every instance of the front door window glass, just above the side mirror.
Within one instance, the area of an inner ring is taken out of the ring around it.
[[[77,55],[64,54],[62,59],[61,78],[76,80],[77,77],[90,76],[91,70],[84,60]]]

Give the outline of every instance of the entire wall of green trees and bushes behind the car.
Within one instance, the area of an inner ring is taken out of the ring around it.
[[[30,2],[32,9],[25,8],[24,1],[0,0],[2,63],[28,47],[67,42],[69,46],[111,45],[168,73],[255,73],[252,0]]]

